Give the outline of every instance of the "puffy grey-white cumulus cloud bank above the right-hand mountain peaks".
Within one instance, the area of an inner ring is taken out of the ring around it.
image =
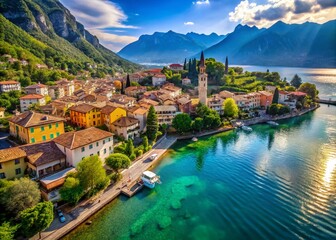
[[[258,27],[268,27],[279,20],[323,23],[335,16],[336,0],[267,0],[264,4],[244,0],[229,13],[230,21]]]

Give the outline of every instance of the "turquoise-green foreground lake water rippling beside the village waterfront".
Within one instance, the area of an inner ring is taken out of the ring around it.
[[[280,123],[179,142],[66,239],[336,239],[336,107]]]

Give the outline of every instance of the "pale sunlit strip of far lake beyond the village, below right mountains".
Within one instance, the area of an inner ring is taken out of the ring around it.
[[[335,68],[291,68],[291,67],[265,67],[265,66],[241,66],[244,71],[279,72],[282,79],[292,80],[298,74],[303,82],[314,83],[320,91],[319,97],[328,100],[336,100],[336,69]]]

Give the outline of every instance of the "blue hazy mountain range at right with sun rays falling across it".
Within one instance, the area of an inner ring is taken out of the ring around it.
[[[268,29],[238,25],[220,43],[205,50],[206,57],[230,63],[336,67],[336,20],[316,24],[285,24]]]

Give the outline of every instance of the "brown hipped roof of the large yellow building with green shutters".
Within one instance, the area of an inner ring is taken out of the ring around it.
[[[9,119],[9,121],[22,127],[32,127],[61,122],[65,121],[65,119],[33,111],[27,111],[20,115],[12,117],[11,119]]]

